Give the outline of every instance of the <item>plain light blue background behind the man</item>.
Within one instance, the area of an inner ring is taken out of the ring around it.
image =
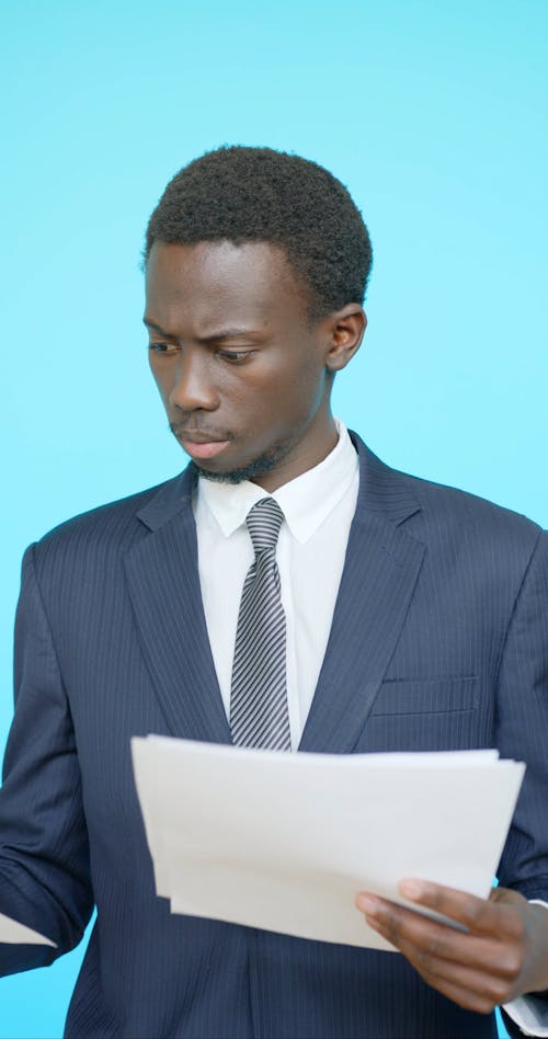
[[[295,150],[363,209],[346,423],[548,524],[545,0],[16,0],[1,21],[0,744],[24,547],[181,467],[138,264],[165,182],[206,149]],[[60,1035],[82,948],[0,983],[2,1039]]]

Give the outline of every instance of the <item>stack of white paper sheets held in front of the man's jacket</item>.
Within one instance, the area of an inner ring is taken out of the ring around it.
[[[133,740],[159,894],[175,913],[392,949],[354,907],[422,877],[487,895],[524,765],[496,751],[283,754]]]

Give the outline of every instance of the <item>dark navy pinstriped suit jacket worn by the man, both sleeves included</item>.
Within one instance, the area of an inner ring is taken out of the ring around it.
[[[300,750],[496,745],[525,760],[499,879],[548,899],[547,537],[354,443],[359,498]],[[130,738],[230,742],[193,479],[72,520],[25,556],[0,912],[58,949],[0,945],[0,971],[72,948],[95,903],[68,1036],[494,1036],[492,1015],[429,989],[400,955],[172,916],[156,897]]]

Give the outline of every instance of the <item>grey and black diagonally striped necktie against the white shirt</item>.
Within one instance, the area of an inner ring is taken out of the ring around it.
[[[284,514],[262,498],[247,517],[255,558],[248,571],[238,615],[230,728],[239,746],[292,749],[285,675],[285,614],[279,595],[276,546]]]

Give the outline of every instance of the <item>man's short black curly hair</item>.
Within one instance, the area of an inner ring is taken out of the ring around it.
[[[373,254],[362,214],[346,187],[308,159],[239,145],[194,159],[150,217],[145,263],[155,241],[224,240],[284,249],[313,318],[364,299]]]

